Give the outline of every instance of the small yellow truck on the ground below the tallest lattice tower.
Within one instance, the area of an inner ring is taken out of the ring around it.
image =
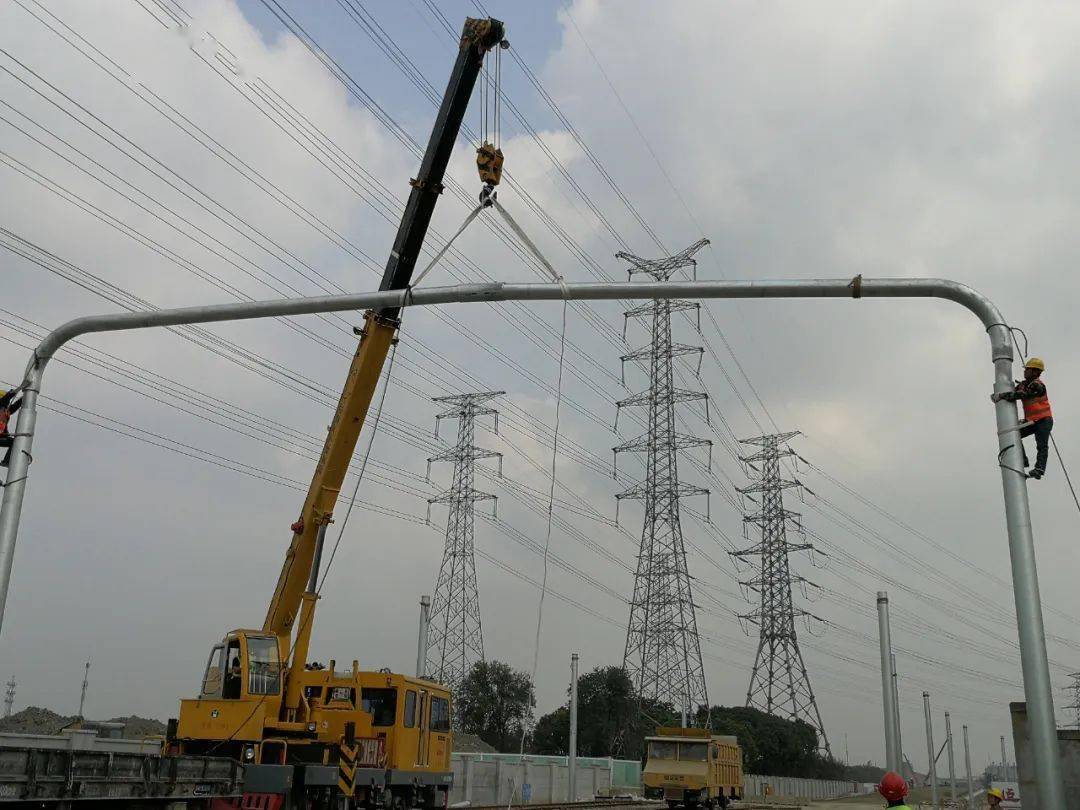
[[[674,808],[726,808],[742,798],[742,748],[700,728],[658,728],[645,738],[645,797]]]

